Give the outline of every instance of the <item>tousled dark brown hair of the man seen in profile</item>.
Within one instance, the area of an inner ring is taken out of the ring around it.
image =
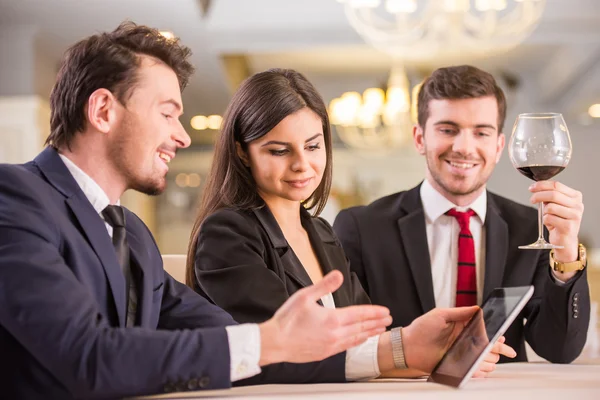
[[[50,95],[50,136],[46,144],[57,149],[70,147],[74,135],[85,129],[85,107],[98,89],[111,91],[125,105],[137,83],[141,56],[170,67],[183,90],[194,72],[188,61],[190,55],[191,50],[178,38],[168,39],[157,29],[130,21],[112,32],[76,43],[66,51]]]

